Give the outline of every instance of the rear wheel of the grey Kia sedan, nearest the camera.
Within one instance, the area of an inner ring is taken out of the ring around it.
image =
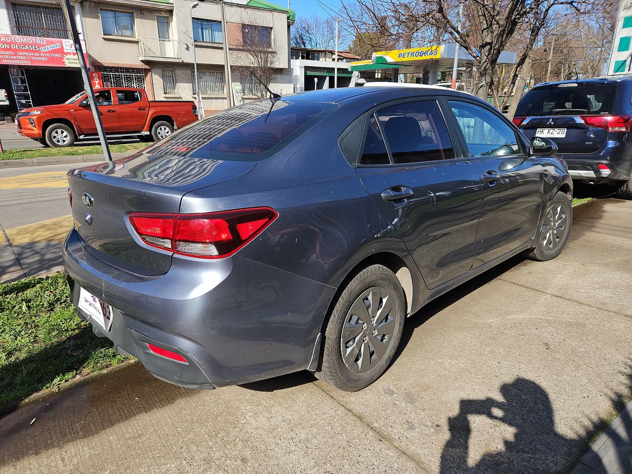
[[[404,290],[395,274],[382,265],[362,270],[332,310],[315,375],[348,392],[369,386],[391,363],[405,317]]]

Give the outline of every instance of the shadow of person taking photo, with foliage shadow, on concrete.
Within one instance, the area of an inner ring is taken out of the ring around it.
[[[629,374],[628,379],[632,381]],[[567,473],[578,461],[578,454],[588,449],[590,440],[609,422],[605,419],[588,420],[584,434],[576,438],[565,437],[556,430],[549,395],[537,383],[518,377],[503,384],[500,392],[504,400],[461,400],[458,414],[448,420],[450,438],[441,453],[440,474]],[[625,397],[616,394],[611,396],[611,401],[617,410],[621,410]],[[490,420],[504,423],[515,430],[515,435],[513,440],[504,441],[503,450],[490,452],[487,447],[482,458],[470,466],[468,454],[473,434],[470,417],[473,415],[487,416]],[[632,433],[628,436],[631,437]],[[623,458],[624,453],[619,454]],[[605,473],[604,464],[598,456],[590,467],[597,473]]]

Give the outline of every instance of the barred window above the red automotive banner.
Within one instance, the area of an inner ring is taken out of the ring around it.
[[[14,35],[70,39],[66,16],[58,6],[11,3],[11,13]]]

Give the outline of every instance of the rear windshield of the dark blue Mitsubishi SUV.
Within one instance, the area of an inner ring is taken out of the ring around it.
[[[520,100],[516,117],[534,115],[609,114],[616,84],[563,83],[535,87]]]

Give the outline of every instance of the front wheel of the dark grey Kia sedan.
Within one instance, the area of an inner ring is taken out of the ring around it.
[[[560,191],[547,208],[544,224],[536,238],[537,245],[526,250],[525,257],[537,262],[556,258],[568,241],[571,226],[573,226],[573,206],[568,195]]]

